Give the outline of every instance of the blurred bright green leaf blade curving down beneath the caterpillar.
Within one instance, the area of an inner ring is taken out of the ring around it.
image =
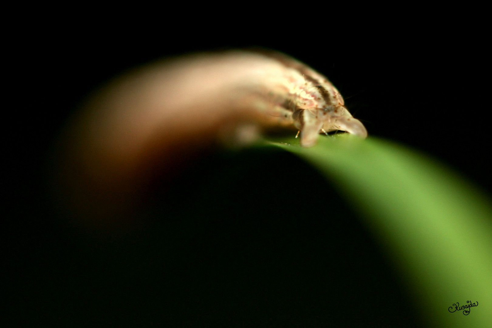
[[[293,138],[269,145],[311,162],[340,188],[400,270],[415,301],[408,311],[435,327],[492,327],[490,200],[401,145],[349,134],[319,139],[308,149]],[[448,311],[467,301],[478,302],[469,315]]]

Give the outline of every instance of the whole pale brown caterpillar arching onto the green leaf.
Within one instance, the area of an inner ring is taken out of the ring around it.
[[[69,163],[57,170],[69,185],[62,194],[94,215],[124,211],[154,176],[180,169],[227,127],[242,125],[253,127],[240,136],[249,141],[258,128],[297,127],[304,147],[323,131],[367,135],[338,90],[297,60],[245,51],[191,55],[134,69],[93,93],[60,138],[60,163]]]

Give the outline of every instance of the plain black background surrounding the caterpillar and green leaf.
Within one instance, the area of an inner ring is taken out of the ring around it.
[[[174,14],[179,23],[171,23]],[[480,27],[431,16],[313,24],[174,14],[146,25],[67,15],[13,38],[7,64],[18,92],[7,95],[14,105],[4,120],[6,324],[421,325],[404,278],[350,207],[289,154],[211,150],[154,190],[135,210],[142,224],[124,234],[64,221],[48,196],[47,154],[84,96],[115,74],[164,56],[263,46],[328,76],[369,135],[423,151],[490,193],[489,72],[470,33]]]

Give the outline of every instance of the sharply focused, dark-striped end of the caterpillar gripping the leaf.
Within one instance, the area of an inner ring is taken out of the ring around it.
[[[321,132],[341,130],[367,137],[364,125],[352,117],[340,92],[326,77],[283,54],[269,53],[267,57],[283,69],[272,70],[277,75],[258,82],[264,82],[263,96],[270,105],[266,115],[278,117],[283,124],[294,124],[301,132],[303,147],[313,146]]]

